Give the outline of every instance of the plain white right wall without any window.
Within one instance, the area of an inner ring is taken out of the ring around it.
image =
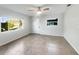
[[[64,16],[64,37],[79,54],[79,5],[69,7]]]

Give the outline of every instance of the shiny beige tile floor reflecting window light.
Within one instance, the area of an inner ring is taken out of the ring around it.
[[[0,47],[0,55],[77,55],[59,36],[31,34]]]

